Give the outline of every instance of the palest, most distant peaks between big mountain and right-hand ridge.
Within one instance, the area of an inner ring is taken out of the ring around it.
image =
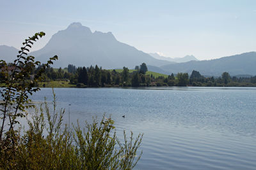
[[[158,53],[148,53],[148,54],[154,57],[155,59],[168,60],[170,62],[189,62],[191,60],[198,60],[194,55],[186,55],[185,57],[182,57],[182,58],[171,58],[171,57],[161,56]]]

